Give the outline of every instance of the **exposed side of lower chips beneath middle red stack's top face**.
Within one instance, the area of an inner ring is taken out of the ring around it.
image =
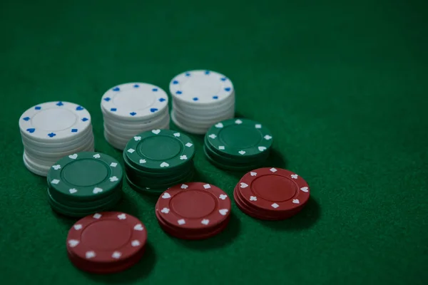
[[[162,217],[160,216],[159,212],[156,211],[156,217],[158,218],[158,223],[163,229],[164,232],[169,234],[170,236],[177,237],[179,239],[208,239],[209,237],[213,237],[216,234],[219,234],[220,232],[225,229],[225,227],[228,225],[230,217],[225,219],[224,222],[216,225],[215,227],[211,227],[210,229],[178,229],[176,227],[171,226],[170,224],[165,223],[163,221]]]

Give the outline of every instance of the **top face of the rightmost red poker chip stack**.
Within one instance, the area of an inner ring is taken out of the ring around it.
[[[310,196],[309,186],[302,177],[274,167],[248,172],[238,183],[238,190],[250,204],[272,211],[302,207]]]

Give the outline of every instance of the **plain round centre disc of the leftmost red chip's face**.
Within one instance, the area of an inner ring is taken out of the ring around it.
[[[81,235],[81,241],[91,249],[114,250],[125,246],[131,237],[128,224],[105,219],[88,225]]]

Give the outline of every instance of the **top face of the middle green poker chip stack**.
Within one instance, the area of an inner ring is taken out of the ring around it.
[[[134,165],[150,170],[168,170],[192,160],[193,141],[173,130],[150,130],[133,137],[123,152]]]

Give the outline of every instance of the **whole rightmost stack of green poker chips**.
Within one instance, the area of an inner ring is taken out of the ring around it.
[[[261,123],[248,119],[223,120],[205,135],[205,157],[215,167],[248,171],[260,167],[272,149],[272,134]]]

